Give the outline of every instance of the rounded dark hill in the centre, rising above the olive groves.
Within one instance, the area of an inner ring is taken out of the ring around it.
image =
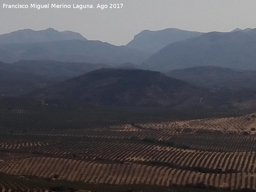
[[[191,107],[206,92],[156,71],[101,68],[26,97],[92,105]]]

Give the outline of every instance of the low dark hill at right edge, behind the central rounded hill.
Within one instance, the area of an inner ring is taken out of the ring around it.
[[[204,88],[256,89],[256,71],[200,66],[165,73]]]

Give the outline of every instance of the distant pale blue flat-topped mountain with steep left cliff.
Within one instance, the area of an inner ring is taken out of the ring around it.
[[[144,30],[135,35],[134,39],[126,44],[126,47],[156,53],[168,44],[191,37],[198,37],[202,34],[204,33],[185,31],[177,28],[168,28],[159,31]]]

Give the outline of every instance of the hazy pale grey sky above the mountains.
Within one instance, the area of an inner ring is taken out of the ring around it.
[[[70,4],[70,9],[30,9],[30,4]],[[3,4],[28,4],[7,9]],[[92,4],[94,9],[73,9]],[[119,9],[97,9],[98,4],[123,4]],[[179,28],[228,32],[256,28],[255,0],[0,0],[0,34],[30,28],[79,32],[88,40],[125,45],[142,30]]]

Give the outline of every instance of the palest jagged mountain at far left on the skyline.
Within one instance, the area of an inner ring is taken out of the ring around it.
[[[8,34],[0,35],[0,44],[39,43],[74,39],[87,41],[87,39],[84,38],[81,34],[73,31],[59,32],[53,28],[40,31],[22,29]]]

